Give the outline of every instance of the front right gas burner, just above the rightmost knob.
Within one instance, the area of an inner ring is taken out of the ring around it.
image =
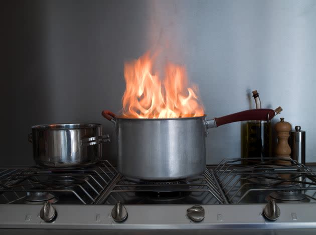
[[[290,186],[293,186],[290,185]],[[290,187],[284,187],[284,190],[277,190],[271,192],[267,198],[269,199],[275,199],[276,202],[309,202],[310,200],[307,198],[307,196],[302,193],[302,190],[300,189],[293,189]]]

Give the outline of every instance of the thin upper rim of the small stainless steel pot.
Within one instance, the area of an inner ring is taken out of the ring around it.
[[[83,128],[95,128],[101,126],[99,123],[86,123],[86,122],[70,122],[70,123],[51,123],[51,124],[40,124],[33,125],[32,129],[83,129]]]

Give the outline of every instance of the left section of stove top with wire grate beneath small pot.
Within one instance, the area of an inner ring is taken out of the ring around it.
[[[0,203],[93,204],[116,174],[108,161],[85,168],[4,168],[0,169]]]

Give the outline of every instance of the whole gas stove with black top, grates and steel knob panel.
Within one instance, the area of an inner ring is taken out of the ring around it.
[[[2,168],[0,227],[315,232],[316,172],[276,159],[226,158],[201,175],[173,181],[128,178],[108,161]]]

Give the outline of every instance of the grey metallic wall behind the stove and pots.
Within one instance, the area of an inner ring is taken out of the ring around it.
[[[118,112],[123,62],[147,49],[186,64],[209,117],[282,106],[306,130],[306,158],[316,161],[316,2],[313,0],[33,0],[2,2],[0,165],[32,164],[33,124],[103,124]],[[274,121],[277,121],[275,119]],[[210,130],[207,162],[241,155],[241,124]],[[104,144],[115,161],[116,145]]]

